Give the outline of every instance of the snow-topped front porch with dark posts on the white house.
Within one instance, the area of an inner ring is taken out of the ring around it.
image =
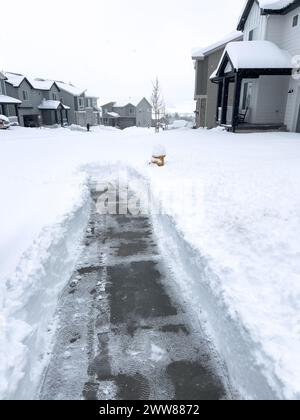
[[[284,130],[292,58],[268,41],[228,44],[211,81],[216,121],[230,131]]]

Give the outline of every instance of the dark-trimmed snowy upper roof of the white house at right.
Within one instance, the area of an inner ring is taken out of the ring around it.
[[[257,3],[262,15],[285,15],[300,6],[300,0],[246,0],[238,23],[238,31],[243,31],[251,9]]]

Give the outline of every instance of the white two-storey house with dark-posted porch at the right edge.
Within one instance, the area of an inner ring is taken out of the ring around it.
[[[248,0],[238,30],[244,41],[228,44],[212,78],[219,124],[300,132],[300,1]]]

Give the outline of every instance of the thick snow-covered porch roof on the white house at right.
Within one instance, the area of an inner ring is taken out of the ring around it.
[[[232,65],[238,69],[292,69],[292,57],[270,41],[245,41],[229,43],[223,57],[228,54]],[[219,63],[218,71],[223,62]]]

